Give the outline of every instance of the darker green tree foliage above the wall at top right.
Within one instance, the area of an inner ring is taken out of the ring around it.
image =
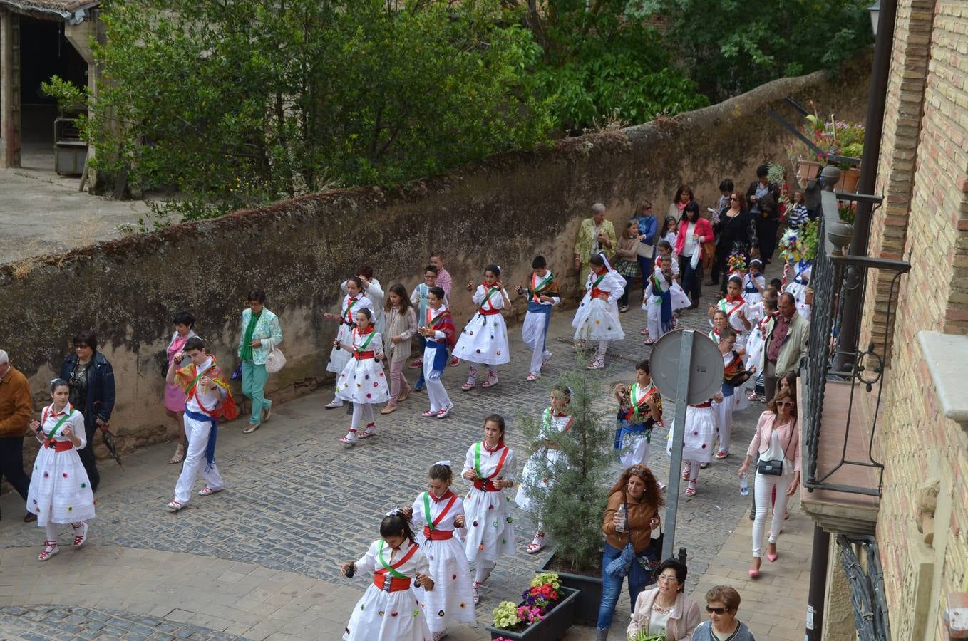
[[[873,42],[869,0],[634,0],[668,22],[677,64],[714,101],[778,77],[835,70]]]

